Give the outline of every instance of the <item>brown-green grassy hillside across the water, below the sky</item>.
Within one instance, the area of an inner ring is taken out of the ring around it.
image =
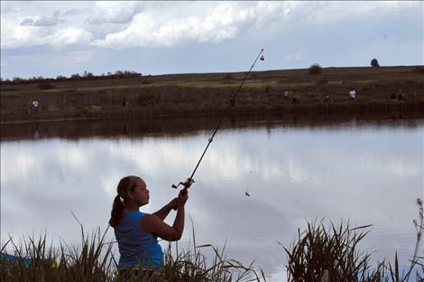
[[[325,68],[320,74],[309,74],[308,69],[252,72],[231,113],[301,116],[402,111],[419,115],[424,112],[422,70],[410,66]],[[54,89],[2,84],[1,122],[216,115],[226,108],[244,75],[198,73],[52,82]],[[356,99],[348,95],[352,88]],[[282,95],[284,89],[290,91],[287,99]],[[28,112],[32,100],[40,102],[36,116]]]

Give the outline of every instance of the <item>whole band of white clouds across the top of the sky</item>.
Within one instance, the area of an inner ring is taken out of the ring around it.
[[[28,7],[25,8],[26,6]],[[260,33],[270,30],[290,32],[292,27],[334,24],[358,14],[392,13],[410,6],[422,8],[422,5],[414,2],[371,2],[365,5],[357,2],[298,1],[99,1],[83,3],[78,8],[75,3],[69,2],[63,5],[38,2],[4,5],[2,2],[2,48],[27,47],[40,43],[58,47],[60,42],[80,42],[113,49],[172,47],[190,42],[218,43],[232,40],[253,29]],[[13,15],[5,14],[4,8],[14,11]],[[87,13],[91,15],[84,21]],[[67,22],[61,20],[60,16],[67,16]],[[62,29],[44,29],[42,32],[25,28],[55,27],[59,24]],[[93,27],[93,24],[97,26]],[[99,28],[98,24],[102,24],[102,27]],[[121,29],[123,24],[124,29]],[[22,27],[18,27],[19,25]],[[65,31],[65,34],[60,34],[60,31]],[[94,38],[92,34],[102,37]],[[58,35],[59,39],[53,38]]]

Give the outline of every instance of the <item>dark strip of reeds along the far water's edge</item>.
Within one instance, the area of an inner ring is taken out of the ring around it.
[[[124,119],[131,121],[133,119],[151,119],[151,118],[217,118],[224,113],[225,108],[198,110],[193,109],[185,111],[184,114],[178,114],[171,109],[160,108],[156,111],[148,112],[144,108],[131,108],[128,113],[116,114],[114,111],[102,113],[93,112],[86,117],[55,117],[40,115],[36,118],[1,120],[0,125],[25,124],[25,123],[48,123],[60,121],[97,121]],[[164,113],[164,112],[170,113]],[[147,113],[146,113],[147,112]],[[322,104],[322,105],[297,105],[292,107],[273,106],[272,108],[230,108],[227,117],[229,118],[326,118],[326,117],[368,117],[373,115],[375,118],[385,119],[391,115],[402,115],[405,118],[424,118],[424,102],[398,104]]]

